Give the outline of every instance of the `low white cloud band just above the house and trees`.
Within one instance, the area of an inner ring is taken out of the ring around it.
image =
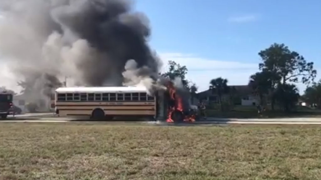
[[[226,78],[229,85],[247,85],[249,77],[258,72],[258,63],[244,63],[238,61],[218,61],[200,58],[191,54],[181,53],[160,53],[163,61],[162,71],[168,70],[168,61],[175,61],[180,65],[184,65],[188,69],[187,79],[196,83],[199,87],[198,92],[207,90],[209,82],[213,78]],[[321,69],[316,67],[317,72],[321,73]],[[321,79],[321,74],[315,79]],[[300,94],[304,93],[306,85],[297,84]]]

